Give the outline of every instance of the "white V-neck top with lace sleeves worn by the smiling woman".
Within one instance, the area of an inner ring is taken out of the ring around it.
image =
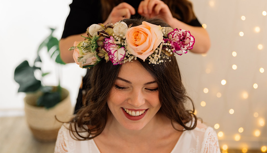
[[[71,138],[65,124],[58,131],[54,153],[100,153],[93,139]],[[171,153],[221,153],[216,132],[198,121],[194,130],[183,131]]]

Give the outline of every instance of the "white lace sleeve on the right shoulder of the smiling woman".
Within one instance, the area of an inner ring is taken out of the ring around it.
[[[204,134],[201,152],[203,153],[221,153],[218,137],[216,132],[211,127],[207,127]]]

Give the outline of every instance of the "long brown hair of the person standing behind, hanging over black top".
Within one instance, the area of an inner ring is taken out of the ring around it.
[[[119,3],[124,2],[123,0],[100,0],[101,1],[101,12],[102,20],[106,21],[108,15],[110,14],[113,7],[119,5]],[[174,18],[184,22],[189,23],[194,20],[195,14],[193,11],[193,5],[187,0],[162,0],[170,8],[171,14]],[[178,8],[179,10],[176,10]],[[137,13],[137,12],[136,12]]]

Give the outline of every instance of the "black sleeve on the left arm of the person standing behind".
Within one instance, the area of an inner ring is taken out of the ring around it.
[[[88,26],[103,22],[99,0],[73,0],[69,7],[70,12],[61,38],[84,33]]]

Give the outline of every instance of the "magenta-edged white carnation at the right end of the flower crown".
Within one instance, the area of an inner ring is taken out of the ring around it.
[[[178,43],[181,50],[183,50],[181,53],[187,53],[186,50],[192,49],[195,43],[195,38],[190,34],[190,31],[182,29],[174,29],[174,31],[168,33],[168,38],[174,43]]]

